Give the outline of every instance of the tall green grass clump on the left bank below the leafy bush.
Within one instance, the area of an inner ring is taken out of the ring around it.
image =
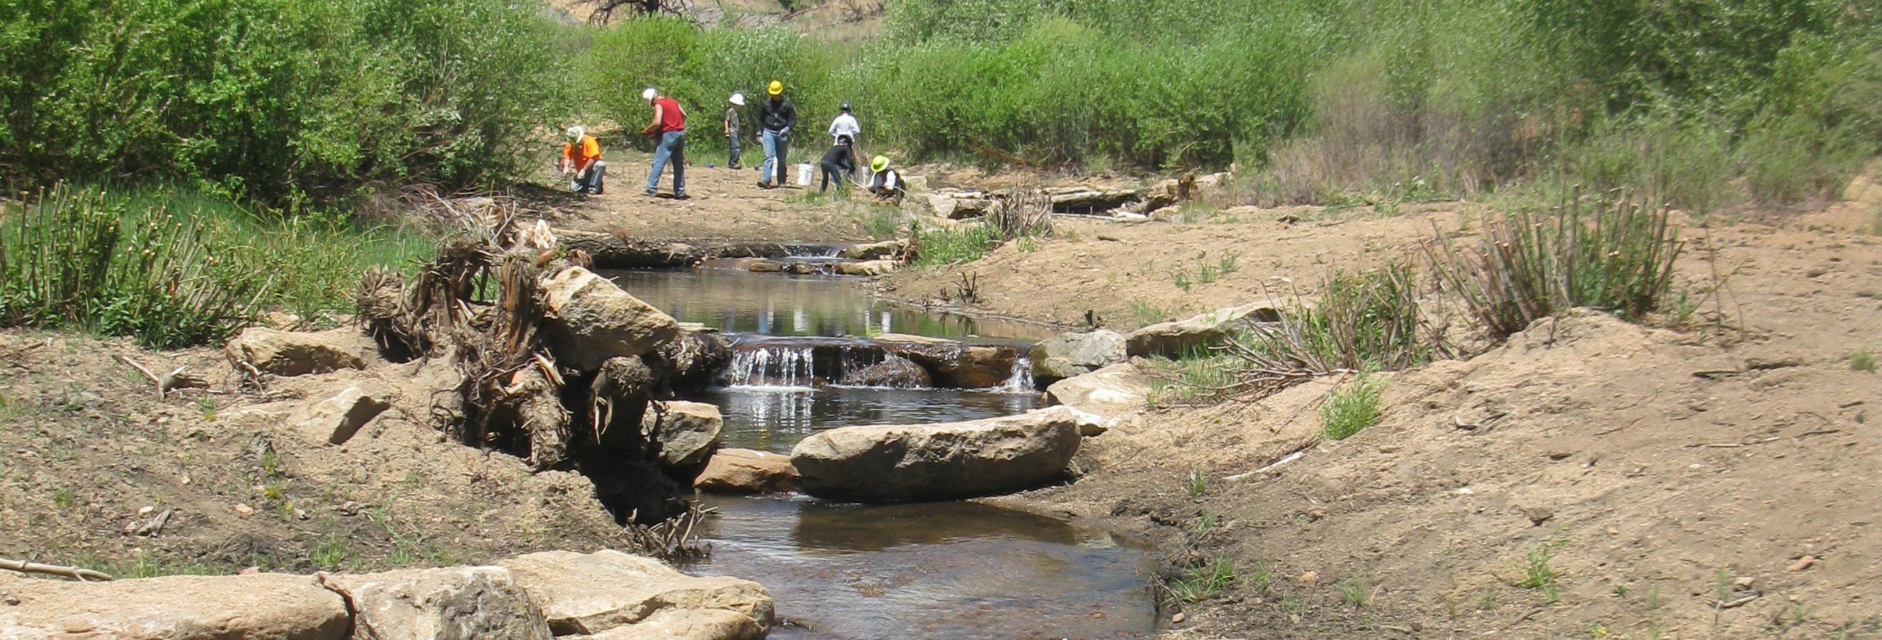
[[[263,310],[348,306],[369,265],[429,255],[416,233],[141,188],[56,186],[0,212],[0,325],[136,336],[167,349],[222,340]]]

